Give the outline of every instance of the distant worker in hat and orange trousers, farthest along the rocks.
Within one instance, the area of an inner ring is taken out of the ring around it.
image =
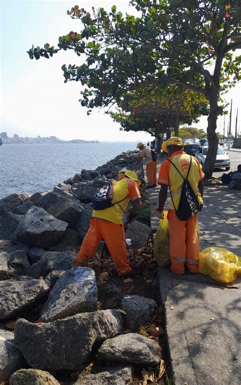
[[[145,158],[146,177],[148,181],[148,186],[146,188],[157,187],[157,161],[153,161],[150,147],[145,146],[143,143],[138,143],[136,148],[139,148],[141,153],[136,161],[135,168],[138,166],[140,160]]]

